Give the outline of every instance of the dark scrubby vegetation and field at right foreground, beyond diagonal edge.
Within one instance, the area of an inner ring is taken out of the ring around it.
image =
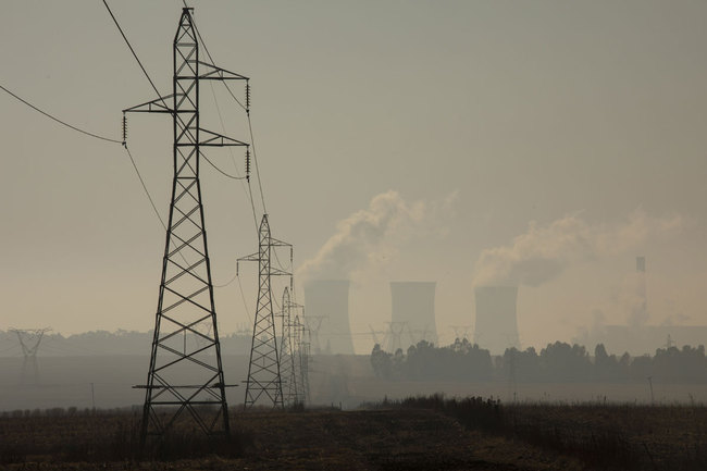
[[[463,426],[521,441],[592,469],[707,469],[707,408],[596,404],[508,404],[443,395],[384,400],[375,409],[425,409]]]

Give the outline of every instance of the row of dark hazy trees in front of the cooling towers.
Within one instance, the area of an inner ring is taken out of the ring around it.
[[[435,347],[422,340],[407,352],[390,354],[373,347],[371,365],[376,376],[398,381],[512,381],[538,382],[656,382],[707,383],[705,347],[659,348],[654,356],[608,355],[603,344],[594,356],[581,345],[548,344],[535,348],[507,349],[503,356],[469,340]]]

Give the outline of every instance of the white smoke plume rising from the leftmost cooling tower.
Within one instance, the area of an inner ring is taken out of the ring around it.
[[[443,201],[408,203],[394,190],[376,195],[367,209],[337,224],[336,233],[302,263],[298,276],[305,281],[350,278],[367,267],[388,263],[397,246],[413,234],[444,235],[438,222],[455,199],[456,193]]]

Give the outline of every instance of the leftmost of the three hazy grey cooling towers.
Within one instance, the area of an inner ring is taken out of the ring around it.
[[[321,319],[319,332],[312,332],[312,351],[317,352],[319,347],[319,352],[354,355],[348,288],[348,280],[318,280],[305,284],[307,317]]]

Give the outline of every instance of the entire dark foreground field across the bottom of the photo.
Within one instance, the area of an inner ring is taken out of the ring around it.
[[[188,424],[138,459],[136,411],[0,416],[0,468],[20,470],[702,470],[703,407],[508,405],[442,396],[340,411],[256,410],[209,444]],[[159,454],[157,456],[154,454]]]

